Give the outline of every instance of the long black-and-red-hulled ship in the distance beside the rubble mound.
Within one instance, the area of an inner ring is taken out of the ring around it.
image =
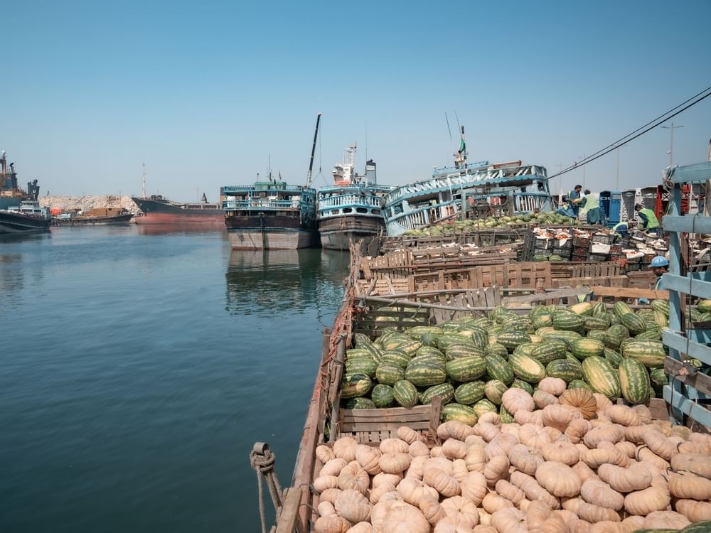
[[[144,213],[135,217],[137,224],[224,224],[225,212],[222,205],[208,203],[203,194],[203,200],[198,203],[178,203],[163,198],[161,195],[151,195],[151,198],[131,198]]]

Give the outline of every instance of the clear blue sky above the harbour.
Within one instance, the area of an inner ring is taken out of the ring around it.
[[[269,156],[303,183],[318,112],[316,186],[351,142],[380,183],[428,178],[455,113],[470,161],[552,174],[711,85],[709,0],[2,6],[0,148],[43,195],[137,195],[144,160],[147,192],[177,200],[217,200]],[[674,163],[704,161],[711,97],[674,122]],[[669,146],[657,129],[621,149],[624,188],[658,183]],[[586,184],[615,169],[595,161]]]

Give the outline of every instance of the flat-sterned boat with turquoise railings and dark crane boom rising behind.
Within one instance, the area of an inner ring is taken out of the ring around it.
[[[321,114],[316,117],[311,163],[306,185],[289,185],[282,176],[254,185],[221,188],[225,227],[232,249],[299,249],[318,246],[316,190],[311,188],[316,137]]]

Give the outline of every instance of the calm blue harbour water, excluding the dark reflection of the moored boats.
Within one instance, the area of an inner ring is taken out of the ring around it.
[[[289,485],[347,269],[181,228],[0,242],[0,531],[259,531],[249,452]]]

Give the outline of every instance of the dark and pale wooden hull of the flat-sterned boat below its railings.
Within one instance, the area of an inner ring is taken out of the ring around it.
[[[232,249],[299,249],[319,244],[314,225],[302,224],[299,217],[237,215],[225,217]]]

